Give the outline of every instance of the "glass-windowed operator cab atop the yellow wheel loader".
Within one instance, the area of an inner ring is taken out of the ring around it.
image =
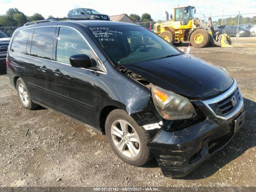
[[[176,7],[174,8],[174,18],[173,21],[180,21],[182,25],[188,25],[188,22],[194,19],[194,13],[196,12],[195,7]]]

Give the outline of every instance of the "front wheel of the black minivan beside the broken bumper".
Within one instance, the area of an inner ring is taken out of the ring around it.
[[[153,158],[146,145],[150,134],[124,110],[110,112],[105,128],[110,147],[122,161],[133,166],[143,166]]]

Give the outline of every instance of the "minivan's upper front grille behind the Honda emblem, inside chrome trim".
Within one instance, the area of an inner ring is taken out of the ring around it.
[[[234,96],[236,97],[237,102],[233,106],[232,98]],[[224,98],[223,100],[221,100],[217,103],[209,104],[209,106],[210,106],[210,108],[212,108],[212,110],[215,112],[216,115],[226,116],[226,115],[230,114],[233,110],[236,109],[236,107],[240,103],[241,99],[242,98],[241,98],[239,88],[236,88],[236,90],[232,94],[230,94],[230,96]]]

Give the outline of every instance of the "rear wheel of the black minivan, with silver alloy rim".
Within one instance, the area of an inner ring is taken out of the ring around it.
[[[16,90],[18,92],[18,98],[24,108],[32,110],[38,107],[38,104],[32,102],[28,89],[21,78],[18,78],[16,82]]]

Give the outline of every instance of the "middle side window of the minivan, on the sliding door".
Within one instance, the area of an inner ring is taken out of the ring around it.
[[[52,59],[55,27],[35,28],[31,43],[31,56]]]

